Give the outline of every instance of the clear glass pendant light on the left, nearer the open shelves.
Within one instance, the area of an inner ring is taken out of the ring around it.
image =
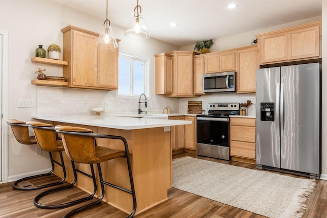
[[[103,23],[103,29],[97,40],[97,46],[104,47],[107,49],[115,49],[116,47],[118,47],[118,43],[110,27],[110,20],[108,20],[108,0],[107,0],[106,20]]]

